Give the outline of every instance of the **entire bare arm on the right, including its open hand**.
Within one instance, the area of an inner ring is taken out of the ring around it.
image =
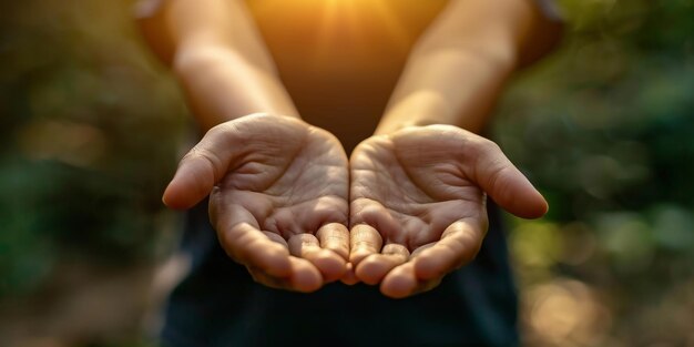
[[[473,132],[511,72],[558,33],[530,0],[459,0],[418,42],[375,136],[350,157],[357,278],[391,297],[436,287],[480,249],[487,194],[521,217],[547,212],[499,146]]]

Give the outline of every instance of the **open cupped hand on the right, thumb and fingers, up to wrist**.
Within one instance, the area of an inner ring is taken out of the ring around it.
[[[358,279],[400,298],[436,287],[482,244],[486,194],[521,217],[542,195],[493,142],[450,125],[367,139],[350,162],[350,255]]]

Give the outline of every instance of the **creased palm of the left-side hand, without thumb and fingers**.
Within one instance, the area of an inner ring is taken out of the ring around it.
[[[211,194],[214,215],[247,213],[287,241],[347,222],[347,163],[327,132],[298,122],[245,123],[238,132],[249,145]]]

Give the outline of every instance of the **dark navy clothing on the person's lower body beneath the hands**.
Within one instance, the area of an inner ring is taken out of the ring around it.
[[[188,276],[172,294],[164,346],[517,346],[517,295],[499,211],[474,262],[425,294],[389,299],[378,287],[327,285],[313,294],[252,280],[217,244],[206,204],[188,214]]]

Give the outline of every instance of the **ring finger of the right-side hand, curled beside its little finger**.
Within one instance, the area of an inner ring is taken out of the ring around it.
[[[384,276],[396,266],[407,262],[410,253],[399,244],[387,244],[380,254],[371,254],[357,266],[357,278],[369,285],[381,282]]]

